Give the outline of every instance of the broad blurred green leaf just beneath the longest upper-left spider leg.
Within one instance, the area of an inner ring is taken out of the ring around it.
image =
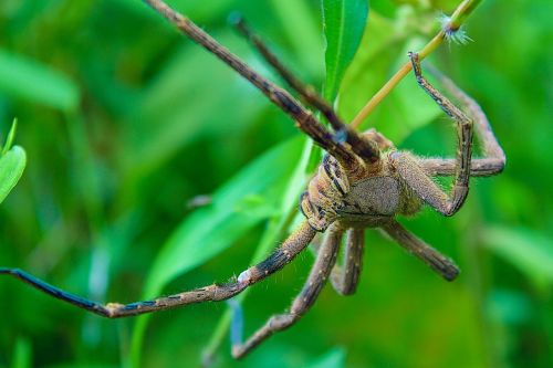
[[[239,53],[247,52],[247,43],[231,39],[230,32],[220,34],[218,41]],[[194,104],[179,103],[192,98]],[[132,179],[129,185],[150,175],[202,135],[238,134],[267,105],[262,94],[219,60],[195,44],[184,44],[168,57],[122,123],[125,181]],[[221,120],[227,123],[221,126]]]

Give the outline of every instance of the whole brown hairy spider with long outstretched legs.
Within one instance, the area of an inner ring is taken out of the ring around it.
[[[301,196],[300,209],[305,220],[272,254],[226,284],[212,284],[175,295],[131,304],[101,304],[54,287],[19,269],[1,267],[11,275],[61,301],[107,318],[135,316],[171,307],[226,301],[262,281],[290,263],[305,250],[317,233],[323,240],[314,246],[316,257],[309,277],[290,309],[273,315],[249,339],[241,339],[241,313],[233,306],[231,330],[232,355],[241,358],[273,333],[295,324],[315,303],[327,278],[343,295],[353,294],[359,281],[364,230],[379,229],[399,245],[421,260],[447,281],[459,274],[457,265],[426,244],[395,220],[413,215],[424,204],[441,214],[455,214],[469,192],[471,177],[488,177],[503,170],[505,156],[480,106],[450,80],[435,72],[441,85],[461,102],[468,115],[438,92],[424,76],[418,54],[409,53],[417,83],[455,120],[458,134],[456,158],[421,158],[397,150],[384,135],[369,129],[363,134],[345,125],[334,109],[312,88],[303,85],[286,70],[259,36],[242,20],[236,25],[283,80],[314,109],[328,120],[331,133],[285,90],[253,71],[185,15],[161,0],[145,0],[184,34],[207,49],[260,90],[274,105],[288,114],[304,134],[322,147],[326,155],[307,189]],[[483,157],[472,159],[473,129],[482,144]],[[451,192],[445,192],[432,177],[453,176]],[[336,264],[342,238],[345,235],[343,264]]]

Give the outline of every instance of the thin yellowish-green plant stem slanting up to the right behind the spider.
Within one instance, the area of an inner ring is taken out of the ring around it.
[[[428,42],[422,50],[418,52],[419,59],[424,60],[431,54],[447,38],[448,34],[457,32],[470,13],[474,10],[482,0],[465,0],[449,18],[448,22],[444,24],[441,30]],[[351,125],[354,129],[358,128],[363,120],[373,113],[383,99],[395,88],[395,86],[409,73],[411,70],[410,62],[405,63],[399,71],[394,74],[388,82],[366,103],[365,106],[353,118]]]

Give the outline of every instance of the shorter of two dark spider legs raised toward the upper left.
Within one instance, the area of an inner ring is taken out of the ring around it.
[[[240,33],[258,50],[261,56],[263,56],[274,69],[274,71],[276,71],[276,73],[279,73],[280,76],[282,76],[282,78],[293,90],[295,90],[307,104],[319,109],[324,117],[326,117],[336,133],[345,135],[345,141],[352,146],[355,154],[367,159],[369,162],[378,160],[379,149],[375,141],[367,139],[352,129],[348,125],[345,125],[337,116],[334,108],[323,97],[321,97],[312,86],[303,84],[286,66],[284,66],[279,57],[276,57],[276,55],[261,40],[261,38],[250,30],[242,17],[238,15],[233,18],[232,22]]]

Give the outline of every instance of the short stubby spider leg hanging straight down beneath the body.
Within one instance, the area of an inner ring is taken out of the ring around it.
[[[332,270],[331,283],[341,295],[352,295],[359,283],[363,267],[363,250],[365,248],[365,231],[363,229],[347,230],[344,252],[344,264],[337,264]]]

